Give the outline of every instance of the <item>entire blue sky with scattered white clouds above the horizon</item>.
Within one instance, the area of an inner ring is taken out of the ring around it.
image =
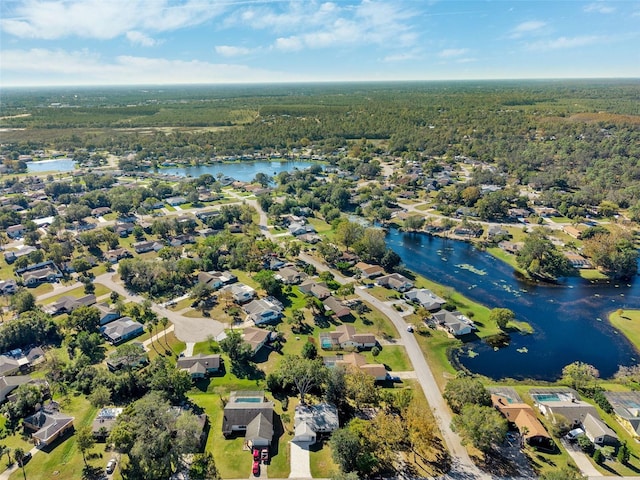
[[[640,77],[640,1],[0,1],[1,86],[586,77]]]

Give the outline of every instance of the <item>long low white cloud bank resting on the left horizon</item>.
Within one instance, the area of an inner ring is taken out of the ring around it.
[[[282,72],[199,60],[119,56],[104,60],[88,50],[31,49],[0,52],[4,85],[130,85],[282,81]],[[309,81],[287,74],[288,81]]]

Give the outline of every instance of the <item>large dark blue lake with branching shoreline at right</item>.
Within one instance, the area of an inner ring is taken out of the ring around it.
[[[531,283],[466,242],[392,229],[387,244],[410,270],[489,308],[509,308],[534,328],[533,335],[512,335],[508,347],[495,351],[482,341],[466,343],[457,357],[472,372],[494,379],[556,380],[562,367],[582,361],[606,378],[619,365],[639,362],[633,346],[607,321],[619,308],[640,308],[637,278],[630,283],[580,278],[559,285]]]

